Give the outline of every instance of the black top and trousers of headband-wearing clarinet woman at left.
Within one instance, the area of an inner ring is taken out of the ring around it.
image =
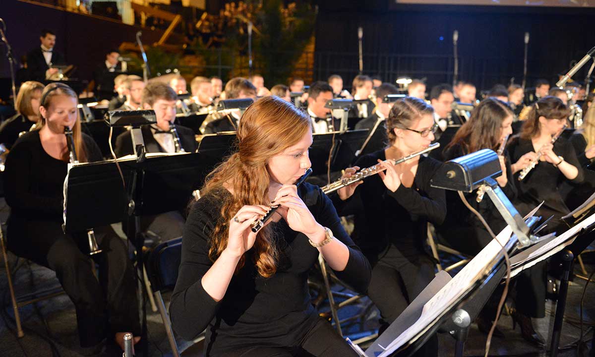
[[[83,140],[89,161],[100,160],[93,139],[83,134]],[[110,331],[139,336],[134,273],[123,241],[111,227],[95,227],[103,250],[93,255],[99,264],[98,281],[89,264],[86,232],[62,231],[67,165],[45,152],[39,130],[24,134],[12,147],[4,172],[11,208],[8,249],[56,272],[76,308],[81,346],[97,345]]]

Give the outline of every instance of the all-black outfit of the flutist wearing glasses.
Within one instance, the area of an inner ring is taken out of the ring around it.
[[[378,159],[386,159],[384,150],[362,156],[355,165],[371,167]],[[444,190],[430,187],[440,165],[421,156],[412,187],[401,184],[392,192],[374,175],[346,201],[333,196],[341,215],[355,214],[353,237],[373,268],[368,295],[387,322],[396,320],[434,278],[427,224],[440,224],[446,216]]]

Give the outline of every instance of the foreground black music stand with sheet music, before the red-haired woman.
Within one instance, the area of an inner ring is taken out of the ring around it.
[[[512,234],[512,230],[505,228],[500,234],[503,234],[500,239],[502,242],[504,237]],[[511,252],[517,242],[516,236],[512,235],[506,242],[505,249]],[[486,258],[488,258],[488,263],[483,263]],[[469,271],[475,273],[469,274]],[[506,264],[502,250],[496,240],[493,240],[452,280],[446,272],[437,274],[424,291],[399,315],[397,320],[365,351],[365,356],[377,357],[383,352],[386,353],[386,356],[397,354],[399,357],[411,356],[439,330],[451,331],[457,340],[455,355],[462,356],[472,315],[478,314],[505,272]],[[459,281],[464,281],[465,285],[462,289],[458,288],[459,291],[456,292],[453,299],[443,306],[436,306],[437,301],[449,295],[452,289],[457,289]],[[428,302],[434,302],[433,306],[426,306]],[[421,317],[428,315],[428,312],[430,312],[430,317],[421,320]],[[402,336],[409,338],[403,339]],[[397,339],[402,341],[395,346],[389,346]]]

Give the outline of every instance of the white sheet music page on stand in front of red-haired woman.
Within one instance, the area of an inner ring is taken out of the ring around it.
[[[446,284],[446,286],[440,289],[440,291],[424,305],[421,317],[419,317],[415,324],[411,325],[411,327],[400,334],[400,336],[393,340],[389,346],[386,346],[386,350],[384,350],[383,353],[380,353],[378,357],[389,356],[391,353],[399,349],[399,347],[409,342],[417,334],[428,328],[431,322],[449,309],[453,303],[464,295],[464,293],[494,265],[494,260],[502,250],[502,246],[505,246],[506,243],[508,243],[511,236],[512,229],[510,226],[507,226],[497,235],[497,241],[496,239],[491,240],[481,252],[475,255],[475,257],[471,259],[471,261],[468,262],[468,264],[465,265],[465,267],[459,271],[449,283]],[[500,242],[502,246],[500,246],[498,242]]]

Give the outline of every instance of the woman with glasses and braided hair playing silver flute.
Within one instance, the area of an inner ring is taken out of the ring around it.
[[[386,130],[388,146],[359,158],[343,177],[375,164],[386,171],[343,187],[333,197],[341,215],[355,213],[353,239],[372,264],[368,296],[381,312],[379,333],[434,278],[435,263],[426,249],[427,224],[440,224],[446,215],[444,190],[430,186],[441,162],[422,155],[398,165],[392,162],[431,145],[437,130],[434,109],[422,99],[399,99]],[[437,355],[437,343],[432,337],[418,355]]]

